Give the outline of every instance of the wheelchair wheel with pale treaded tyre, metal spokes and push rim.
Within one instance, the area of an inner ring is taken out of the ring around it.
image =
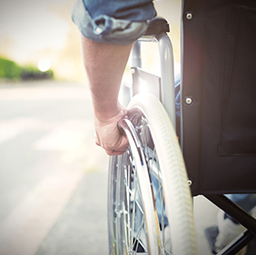
[[[121,126],[130,146],[111,158],[111,254],[197,254],[192,197],[182,152],[162,104],[137,94]]]

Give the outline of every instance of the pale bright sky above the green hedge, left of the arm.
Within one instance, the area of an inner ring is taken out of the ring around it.
[[[70,15],[74,1],[1,1],[0,55],[18,64],[37,65],[40,59],[47,58],[59,76],[84,74],[79,69],[79,33]]]

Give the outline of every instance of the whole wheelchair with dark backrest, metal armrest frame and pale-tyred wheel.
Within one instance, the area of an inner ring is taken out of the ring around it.
[[[224,194],[256,192],[256,3],[182,3],[181,118],[169,25],[154,18],[133,45],[133,85],[123,91],[130,143],[109,163],[110,254],[202,254],[192,197],[203,195],[247,230],[218,254],[255,238],[256,221]],[[143,71],[142,42],[159,46],[161,75]],[[139,93],[140,82],[149,93]]]

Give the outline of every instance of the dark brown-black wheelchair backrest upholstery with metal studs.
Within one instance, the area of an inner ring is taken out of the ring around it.
[[[192,194],[256,192],[256,1],[184,2],[182,147]]]

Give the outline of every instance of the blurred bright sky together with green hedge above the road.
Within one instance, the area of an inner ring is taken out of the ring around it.
[[[70,17],[73,4],[73,0],[1,2],[0,78],[84,82],[80,34]],[[175,61],[180,62],[180,3],[162,0],[155,5],[171,24]]]

